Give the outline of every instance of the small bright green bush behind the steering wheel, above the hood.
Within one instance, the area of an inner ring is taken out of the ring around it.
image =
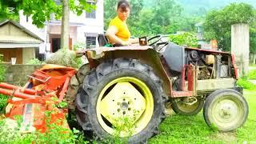
[[[174,42],[180,46],[198,47],[198,39],[196,38],[196,35],[188,32],[170,35],[170,42]]]

